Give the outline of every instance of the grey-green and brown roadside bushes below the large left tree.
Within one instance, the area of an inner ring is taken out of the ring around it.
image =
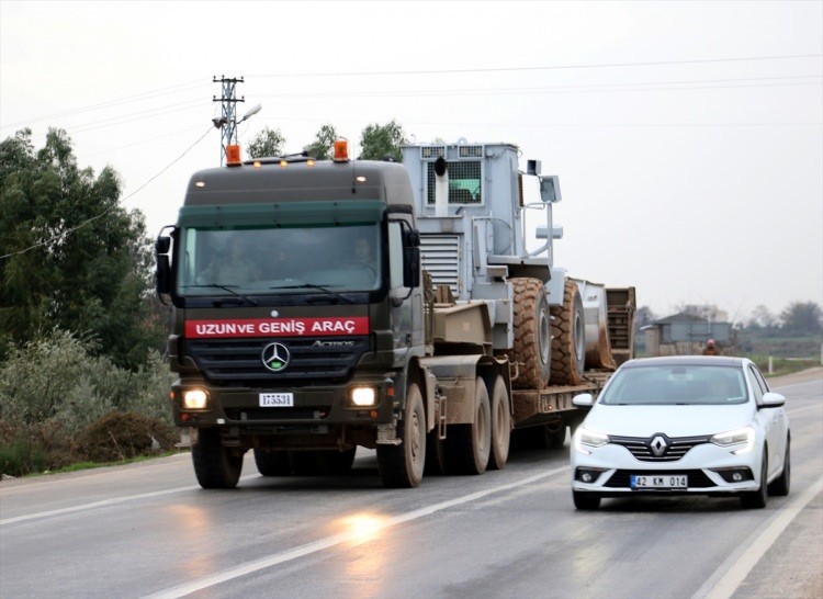
[[[58,329],[11,348],[0,364],[0,472],[20,476],[173,447],[171,375],[159,353],[125,370],[94,349]]]

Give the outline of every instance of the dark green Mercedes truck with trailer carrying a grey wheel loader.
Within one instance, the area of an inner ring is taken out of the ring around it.
[[[228,152],[238,156],[238,151]],[[510,144],[305,155],[191,178],[157,239],[173,307],[170,397],[204,488],[341,474],[375,450],[386,487],[506,465],[512,431],[559,445],[633,351],[634,289],[553,264],[559,179]],[[526,215],[542,247],[527,250]]]

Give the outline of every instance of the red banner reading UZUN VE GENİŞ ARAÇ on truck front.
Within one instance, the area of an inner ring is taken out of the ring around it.
[[[369,317],[244,318],[232,320],[187,320],[189,339],[237,337],[327,337],[369,335]]]

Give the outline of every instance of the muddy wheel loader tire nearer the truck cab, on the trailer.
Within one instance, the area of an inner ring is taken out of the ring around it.
[[[515,388],[541,389],[552,372],[552,318],[540,279],[511,279],[515,292],[515,347],[509,360],[517,364]]]

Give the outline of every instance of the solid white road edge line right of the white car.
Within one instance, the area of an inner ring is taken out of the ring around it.
[[[823,490],[823,476],[803,491],[800,497],[788,506],[780,508],[763,532],[755,532],[743,543],[747,547],[743,552],[735,552],[714,570],[714,574],[698,589],[692,599],[729,599],[746,579],[746,576],[757,565],[757,562],[775,544],[780,534],[791,524],[794,518],[807,505]],[[715,579],[720,577],[719,580]]]

